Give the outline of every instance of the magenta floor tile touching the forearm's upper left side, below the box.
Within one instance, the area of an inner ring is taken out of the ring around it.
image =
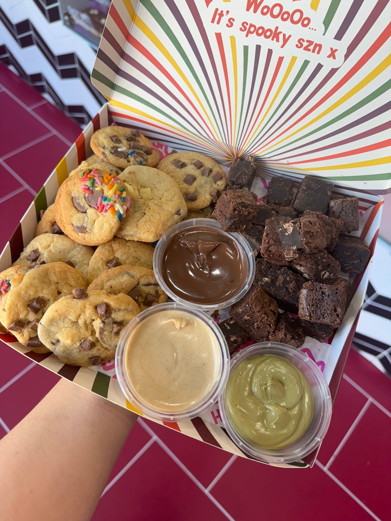
[[[0,394],[0,416],[10,429],[24,418],[60,379],[37,365]]]

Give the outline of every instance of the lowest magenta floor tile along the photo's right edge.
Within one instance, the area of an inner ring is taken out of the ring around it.
[[[389,519],[391,418],[371,404],[329,470],[381,519]]]

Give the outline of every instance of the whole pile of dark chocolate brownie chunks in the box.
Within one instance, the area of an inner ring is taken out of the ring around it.
[[[340,271],[360,274],[370,250],[359,237],[358,197],[332,199],[333,184],[306,176],[273,177],[266,204],[250,191],[255,158],[237,158],[213,217],[225,231],[240,232],[256,257],[248,293],[219,327],[231,353],[248,339],[299,348],[306,336],[324,341],[343,321],[353,296]]]

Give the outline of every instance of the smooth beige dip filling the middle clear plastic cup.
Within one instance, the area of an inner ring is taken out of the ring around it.
[[[200,318],[161,311],[131,333],[125,370],[138,398],[160,411],[193,408],[213,388],[222,364],[217,339]]]

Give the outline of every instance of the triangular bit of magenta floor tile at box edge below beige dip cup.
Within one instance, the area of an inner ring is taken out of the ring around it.
[[[194,440],[173,429],[153,421],[145,421],[205,488],[232,456],[229,452]]]

